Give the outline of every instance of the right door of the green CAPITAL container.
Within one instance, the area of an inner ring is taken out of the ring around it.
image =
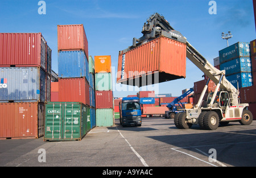
[[[81,106],[77,104],[63,105],[63,138],[67,140],[81,139]]]

